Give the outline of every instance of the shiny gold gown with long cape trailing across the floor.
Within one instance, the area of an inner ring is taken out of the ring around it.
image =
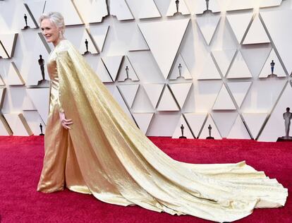
[[[91,193],[116,205],[231,222],[255,207],[281,207],[288,191],[245,162],[187,164],[159,150],[123,112],[83,56],[62,40],[51,78],[44,167],[37,191]],[[71,130],[59,111],[73,119]]]

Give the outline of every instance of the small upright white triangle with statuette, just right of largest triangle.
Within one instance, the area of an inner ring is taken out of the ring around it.
[[[169,75],[170,80],[176,80],[177,78],[184,78],[185,80],[193,79],[181,54],[178,54],[178,58],[174,63],[174,68]]]

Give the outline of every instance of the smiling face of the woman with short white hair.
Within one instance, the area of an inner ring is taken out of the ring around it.
[[[51,22],[51,20],[49,20],[49,18],[45,18],[44,20],[42,20],[41,30],[42,35],[44,35],[47,42],[52,42],[54,45],[59,42],[60,30],[56,27],[54,23]]]

